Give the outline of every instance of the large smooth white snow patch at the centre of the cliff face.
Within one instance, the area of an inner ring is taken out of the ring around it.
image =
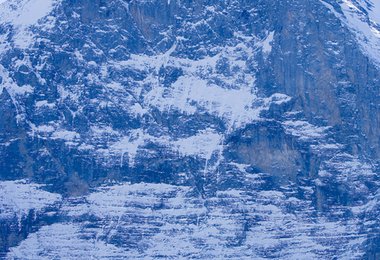
[[[258,119],[261,112],[253,107],[257,97],[250,86],[226,89],[192,76],[180,77],[169,92],[157,87],[146,99],[161,111],[178,109],[190,115],[209,112],[224,118],[234,128]]]

